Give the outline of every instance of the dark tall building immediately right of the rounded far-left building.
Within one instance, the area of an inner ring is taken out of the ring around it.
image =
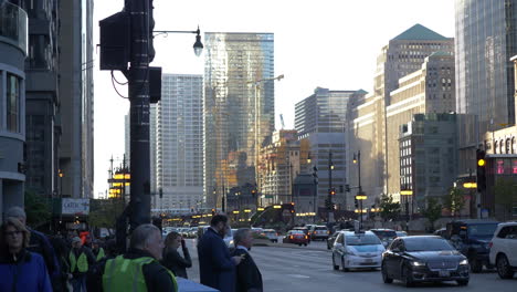
[[[23,1],[29,14],[25,59],[27,190],[52,197],[57,184],[61,119],[59,116],[59,1]],[[66,174],[65,174],[66,175]]]

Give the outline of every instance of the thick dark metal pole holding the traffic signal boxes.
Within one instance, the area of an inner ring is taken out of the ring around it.
[[[130,118],[130,229],[150,222],[149,1],[128,1],[131,56],[128,74]]]

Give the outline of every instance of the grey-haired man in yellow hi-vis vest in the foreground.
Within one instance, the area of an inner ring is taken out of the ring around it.
[[[176,278],[160,264],[163,241],[154,225],[141,225],[131,234],[129,251],[102,261],[88,277],[88,291],[177,292]]]

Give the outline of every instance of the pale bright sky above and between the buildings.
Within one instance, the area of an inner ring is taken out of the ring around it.
[[[94,44],[98,21],[123,9],[124,0],[94,1]],[[444,36],[454,36],[453,0],[155,0],[155,30],[274,33],[276,128],[294,127],[294,105],[316,87],[371,92],[376,60],[390,39],[420,23]],[[194,34],[155,38],[151,63],[163,73],[203,74]],[[203,41],[203,38],[202,38]],[[115,92],[110,73],[98,70],[94,49],[94,196],[108,188],[109,159],[122,164],[124,116],[129,102]],[[119,82],[122,73],[115,72]],[[117,85],[127,96],[127,86]]]

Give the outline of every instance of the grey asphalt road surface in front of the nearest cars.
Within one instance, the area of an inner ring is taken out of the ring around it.
[[[189,240],[193,267],[187,272],[189,278],[199,282],[198,254],[196,240]],[[261,269],[264,291],[408,291],[394,281],[384,284],[380,271],[334,271],[330,251],[321,241],[312,242],[307,248],[292,244],[278,247],[254,247],[251,251]],[[418,284],[416,291],[516,291],[517,278],[500,280],[497,273],[472,274],[467,286],[454,282],[439,284]]]

